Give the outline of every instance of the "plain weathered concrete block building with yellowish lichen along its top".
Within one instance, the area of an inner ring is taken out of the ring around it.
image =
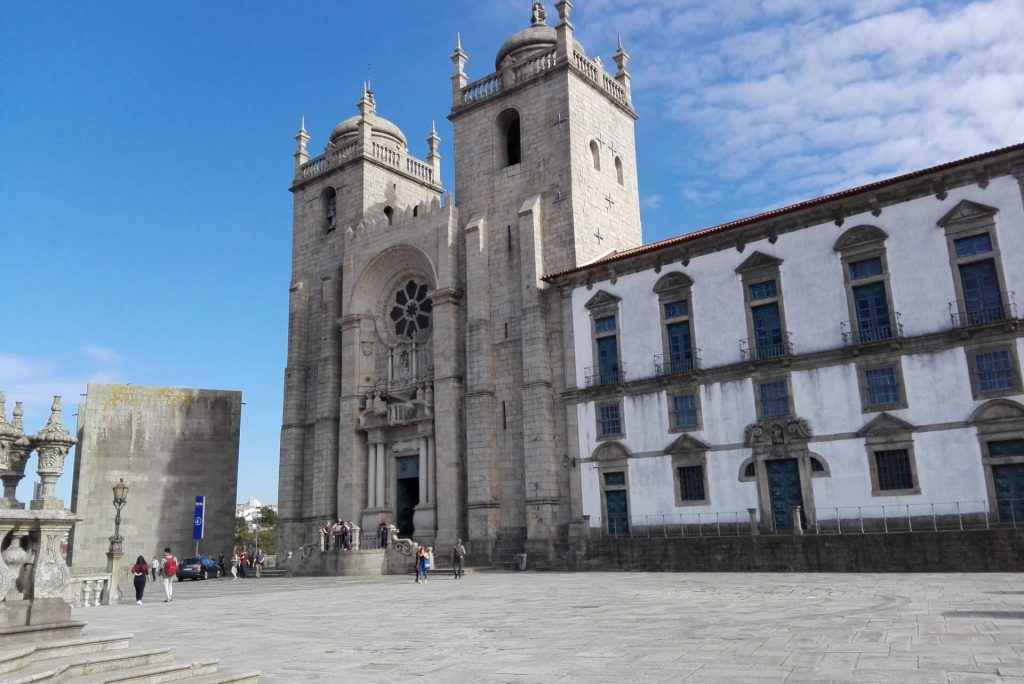
[[[130,485],[122,513],[126,558],[171,547],[196,551],[193,511],[206,497],[200,552],[229,555],[234,540],[242,393],[90,383],[79,405],[69,560],[76,571],[102,568],[113,533],[111,487]]]

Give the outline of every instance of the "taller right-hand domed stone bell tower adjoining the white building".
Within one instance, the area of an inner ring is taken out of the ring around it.
[[[607,73],[575,40],[572,3],[555,8],[552,27],[535,2],[483,78],[461,38],[452,54],[468,536],[499,562],[543,556],[570,522],[562,303],[541,279],[641,244],[629,55],[620,44]]]

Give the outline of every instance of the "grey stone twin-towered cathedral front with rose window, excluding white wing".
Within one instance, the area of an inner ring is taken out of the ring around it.
[[[452,54],[458,206],[366,90],[309,159],[297,135],[281,548],[381,520],[475,557],[544,557],[571,518],[563,295],[542,279],[641,243],[628,55],[571,3],[470,82]]]

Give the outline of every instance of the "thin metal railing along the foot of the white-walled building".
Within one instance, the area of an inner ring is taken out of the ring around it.
[[[609,539],[691,539],[751,535],[872,535],[963,531],[1024,526],[1024,499],[1000,500],[996,511],[988,501],[936,504],[885,504],[815,508],[802,512],[801,528],[775,530],[755,510],[715,513],[634,515],[602,520],[589,517],[591,537]],[[756,529],[756,531],[755,531]]]

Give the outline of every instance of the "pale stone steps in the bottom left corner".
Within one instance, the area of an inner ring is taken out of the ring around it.
[[[0,684],[256,684],[259,673],[221,673],[217,660],[178,661],[173,649],[131,647],[131,635],[83,636],[85,623],[0,628]]]

